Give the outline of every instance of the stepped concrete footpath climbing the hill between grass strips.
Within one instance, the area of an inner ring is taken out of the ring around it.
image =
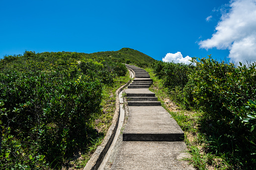
[[[129,114],[104,169],[194,169],[181,160],[188,156],[184,132],[148,90],[149,74],[132,65],[126,67],[135,72],[125,90]]]

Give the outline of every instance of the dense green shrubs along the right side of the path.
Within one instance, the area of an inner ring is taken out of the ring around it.
[[[192,62],[195,65],[157,61],[153,69],[176,103],[202,111],[197,123],[208,153],[221,157],[229,168],[253,169],[256,164],[255,63],[237,66],[218,62],[211,56],[193,58]]]

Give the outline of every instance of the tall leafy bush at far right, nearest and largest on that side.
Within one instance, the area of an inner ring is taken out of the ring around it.
[[[211,56],[193,58],[192,61],[196,63],[196,69],[188,75],[185,97],[190,105],[204,111],[204,128],[211,134],[209,137],[220,136],[219,142],[212,138],[211,141],[215,142],[210,142],[210,148],[217,149],[218,154],[226,152],[229,157],[240,157],[241,167],[251,167],[255,163],[256,147],[253,143],[256,143],[256,138],[251,130],[254,120],[248,119],[253,114],[248,114],[246,103],[249,99],[255,100],[256,96],[254,63],[236,66],[218,62]],[[212,126],[209,128],[207,124],[210,122]],[[221,145],[215,147],[217,143]]]

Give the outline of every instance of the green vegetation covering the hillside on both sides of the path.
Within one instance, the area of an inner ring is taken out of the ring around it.
[[[253,169],[255,63],[192,61],[164,63],[129,48],[6,56],[0,61],[0,168],[83,167],[111,124],[115,90],[129,80],[127,63],[147,69],[158,97],[193,110],[170,113],[187,135],[196,168]],[[81,159],[73,162],[76,153]]]

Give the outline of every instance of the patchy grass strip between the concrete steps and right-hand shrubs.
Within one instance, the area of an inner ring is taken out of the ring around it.
[[[177,99],[179,94],[175,92],[169,92],[167,88],[163,86],[161,79],[153,73],[153,69],[145,69],[153,84],[149,90],[154,92],[161,102],[163,108],[165,108],[170,115],[177,121],[185,134],[185,142],[188,146],[188,151],[191,154],[187,160],[194,165],[196,169],[232,169],[229,162],[225,160],[225,157],[216,156],[209,149],[209,142],[206,134],[200,131],[203,113],[195,110],[185,110],[184,107],[173,102],[173,99]],[[181,96],[180,96],[181,97]]]

